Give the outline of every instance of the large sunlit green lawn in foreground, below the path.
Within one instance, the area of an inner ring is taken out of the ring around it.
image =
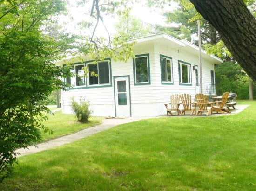
[[[238,115],[113,127],[19,158],[0,190],[256,190],[256,102]]]

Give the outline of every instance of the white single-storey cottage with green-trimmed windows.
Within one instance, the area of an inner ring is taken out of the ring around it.
[[[72,64],[74,73],[81,75],[81,68],[87,65],[98,76],[66,79],[74,89],[61,92],[63,112],[72,112],[72,96],[76,100],[82,96],[90,101],[96,116],[157,116],[166,114],[164,103],[169,102],[170,95],[199,93],[198,46],[164,33],[135,41],[135,58],[127,63],[109,58],[98,64],[93,61]],[[214,65],[222,62],[202,50],[202,84],[207,87],[204,93],[215,92]]]

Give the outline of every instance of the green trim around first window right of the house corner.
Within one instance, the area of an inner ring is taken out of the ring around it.
[[[163,68],[163,64],[162,64],[162,60],[165,59],[166,63],[165,63],[165,70]],[[169,68],[169,72],[168,72],[168,61],[170,64],[170,68]],[[160,54],[160,68],[161,68],[161,84],[165,84],[165,85],[173,85],[173,63],[172,63],[172,57],[168,57],[168,56],[164,56],[162,54]],[[163,70],[165,71],[165,74],[163,74]],[[170,76],[168,78],[168,75]],[[165,78],[166,80],[164,81],[163,78]]]

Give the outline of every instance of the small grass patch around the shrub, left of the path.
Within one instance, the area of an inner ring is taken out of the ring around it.
[[[51,140],[57,137],[61,137],[67,134],[72,134],[82,129],[93,127],[102,123],[104,117],[91,116],[86,123],[80,123],[72,114],[62,114],[61,110],[54,112],[53,114],[46,114],[47,121],[44,121],[45,127],[48,127],[53,131],[53,134],[44,133],[41,130],[43,140]]]

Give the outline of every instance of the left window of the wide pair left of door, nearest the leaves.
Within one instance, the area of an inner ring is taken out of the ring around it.
[[[71,65],[69,66],[71,77],[66,78],[66,82],[71,86],[85,86],[85,76],[84,70],[82,70],[83,65]]]

